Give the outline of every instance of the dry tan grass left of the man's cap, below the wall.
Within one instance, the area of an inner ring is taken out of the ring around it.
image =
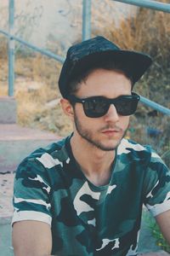
[[[26,58],[16,56],[14,91],[20,125],[53,131],[59,136],[71,132],[71,122],[63,115],[59,101],[54,101],[60,97],[60,66],[57,61],[38,54]],[[0,67],[0,95],[7,96],[7,59],[0,61]]]

